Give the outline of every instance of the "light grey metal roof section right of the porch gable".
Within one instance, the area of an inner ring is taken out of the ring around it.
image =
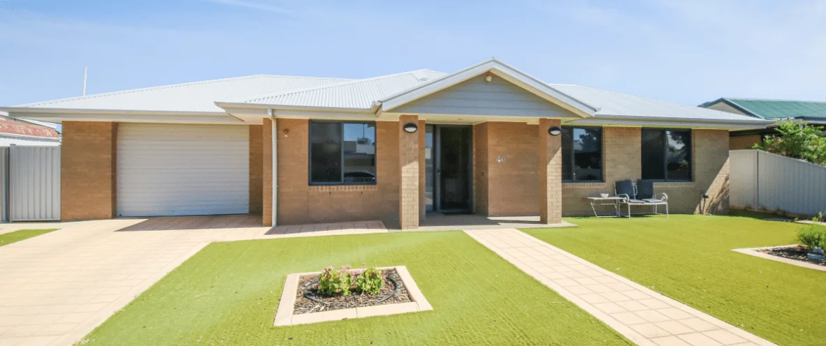
[[[673,119],[703,120],[754,120],[744,115],[735,115],[719,110],[708,110],[693,105],[650,99],[648,97],[621,94],[587,86],[572,84],[548,84],[567,96],[596,107],[596,117],[657,117]]]

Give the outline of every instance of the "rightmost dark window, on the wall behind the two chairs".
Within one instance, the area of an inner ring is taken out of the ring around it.
[[[643,129],[643,179],[691,181],[691,130]]]

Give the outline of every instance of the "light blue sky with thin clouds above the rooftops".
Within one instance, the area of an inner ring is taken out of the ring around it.
[[[491,56],[544,82],[691,105],[826,101],[826,2],[0,0],[0,105],[273,73],[453,72]]]

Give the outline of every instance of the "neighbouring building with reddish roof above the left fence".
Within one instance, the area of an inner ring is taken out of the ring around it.
[[[0,112],[0,147],[10,145],[54,147],[60,145],[55,124],[15,119]]]

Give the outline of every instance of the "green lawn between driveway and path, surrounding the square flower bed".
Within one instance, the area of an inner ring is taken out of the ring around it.
[[[434,311],[273,327],[290,273],[406,265]],[[459,231],[214,243],[86,337],[88,345],[630,344]]]

